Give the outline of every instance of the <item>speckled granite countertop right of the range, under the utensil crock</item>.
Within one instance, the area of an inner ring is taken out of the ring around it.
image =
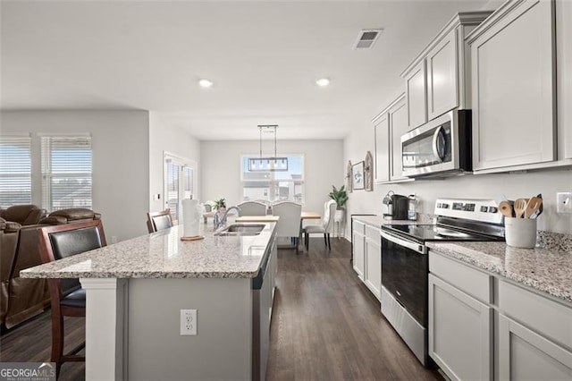
[[[427,242],[431,250],[572,301],[572,253],[557,249],[518,249],[505,242]]]

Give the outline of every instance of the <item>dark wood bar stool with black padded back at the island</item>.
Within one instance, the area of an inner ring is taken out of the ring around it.
[[[68,258],[88,250],[106,246],[104,226],[101,220],[51,225],[38,229],[39,249],[43,263]],[[63,317],[86,316],[86,292],[78,279],[48,279],[52,314],[52,356],[56,377],[65,361],[85,361],[78,352],[85,348],[85,340],[63,351]]]

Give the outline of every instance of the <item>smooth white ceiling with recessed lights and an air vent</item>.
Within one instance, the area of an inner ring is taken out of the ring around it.
[[[200,140],[257,139],[257,124],[341,139],[397,95],[454,13],[484,4],[3,0],[0,106],[149,110]],[[377,28],[373,49],[352,49]]]

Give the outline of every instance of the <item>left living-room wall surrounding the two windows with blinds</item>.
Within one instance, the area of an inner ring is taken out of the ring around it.
[[[102,215],[107,240],[115,236],[122,241],[147,233],[147,111],[2,111],[0,121],[2,133],[31,132],[34,137],[38,133],[90,133],[93,209]],[[38,153],[38,148],[33,149]],[[41,182],[38,171],[34,172],[34,184]],[[40,205],[37,190],[34,185],[34,203]]]

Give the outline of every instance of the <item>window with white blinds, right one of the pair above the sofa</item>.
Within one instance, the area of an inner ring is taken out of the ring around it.
[[[92,207],[91,138],[42,136],[42,207]]]

